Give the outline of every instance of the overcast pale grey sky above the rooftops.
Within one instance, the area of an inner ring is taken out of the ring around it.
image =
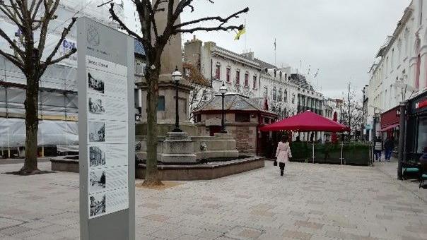
[[[274,64],[274,38],[277,65],[289,64],[307,73],[320,68],[322,92],[341,97],[351,80],[358,95],[368,83],[368,68],[376,52],[391,35],[410,0],[197,0],[195,11],[187,11],[182,21],[203,16],[226,16],[249,6],[246,18],[247,49]],[[235,41],[231,32],[197,32],[197,38],[241,53],[244,39]],[[189,40],[192,35],[184,35]],[[317,81],[314,81],[317,82]],[[316,86],[317,83],[313,85]]]

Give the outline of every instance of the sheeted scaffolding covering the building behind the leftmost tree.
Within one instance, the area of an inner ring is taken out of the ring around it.
[[[108,7],[98,8],[98,1],[62,0],[47,32],[45,52],[52,51],[61,37],[63,28],[71,18],[87,16],[100,23],[117,28],[108,18]],[[117,5],[119,15],[123,6]],[[40,10],[42,11],[42,10]],[[20,31],[4,14],[0,13],[0,28],[16,42],[20,42]],[[37,37],[37,33],[35,34]],[[36,39],[37,41],[37,39]],[[22,46],[21,46],[22,47]],[[76,26],[62,42],[57,56],[66,54],[76,47]],[[0,49],[13,54],[6,40],[0,37]],[[46,57],[49,54],[43,54]],[[56,56],[56,57],[57,57]],[[39,131],[38,145],[78,145],[78,96],[77,96],[77,55],[64,59],[60,64],[49,66],[40,79],[39,90]],[[25,146],[25,89],[26,79],[22,71],[0,56],[0,154],[11,157],[11,150]],[[6,153],[5,153],[6,151]]]

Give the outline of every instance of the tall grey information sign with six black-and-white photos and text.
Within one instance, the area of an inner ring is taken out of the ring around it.
[[[80,229],[135,239],[134,39],[77,21]]]

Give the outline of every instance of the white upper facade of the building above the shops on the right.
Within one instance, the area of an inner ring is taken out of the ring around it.
[[[413,0],[391,36],[380,47],[371,66],[368,86],[367,125],[373,116],[390,112],[399,102],[427,89],[427,2]],[[382,126],[384,126],[382,122]],[[381,128],[380,121],[375,125]],[[379,133],[376,133],[377,136]],[[373,132],[370,133],[370,139]]]

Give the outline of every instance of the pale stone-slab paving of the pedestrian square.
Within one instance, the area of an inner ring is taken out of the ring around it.
[[[379,164],[291,163],[283,177],[272,165],[161,191],[137,187],[136,239],[427,239],[425,199]],[[0,239],[78,239],[78,174],[0,174],[0,182]]]

